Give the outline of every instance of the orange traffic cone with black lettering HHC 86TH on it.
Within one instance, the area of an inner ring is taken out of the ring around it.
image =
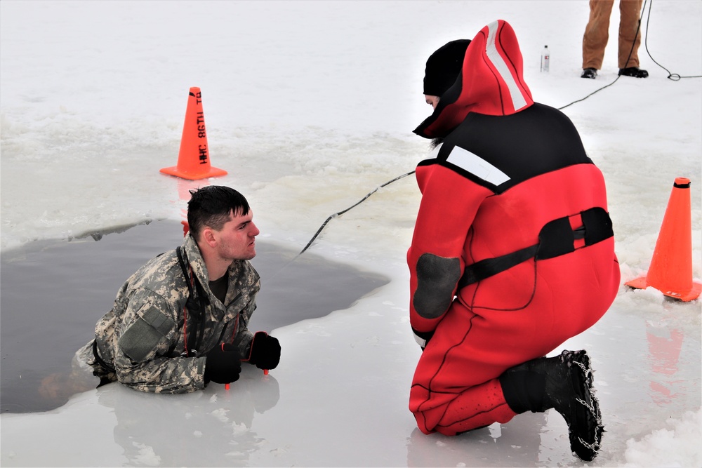
[[[227,174],[227,171],[223,169],[210,166],[200,88],[190,88],[190,95],[187,98],[183,137],[180,139],[180,152],[178,153],[178,166],[163,168],[161,172],[190,180],[206,179]]]

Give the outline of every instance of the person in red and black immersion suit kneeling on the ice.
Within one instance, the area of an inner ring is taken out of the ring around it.
[[[582,460],[602,440],[584,350],[545,357],[607,311],[619,285],[602,173],[573,123],[534,102],[498,20],[429,58],[434,140],[411,247],[410,319],[423,353],[409,408],[425,434],[461,434],[555,408]]]

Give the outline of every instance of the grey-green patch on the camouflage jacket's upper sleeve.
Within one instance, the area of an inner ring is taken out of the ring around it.
[[[117,345],[129,359],[142,362],[161,342],[166,342],[166,335],[176,327],[176,322],[150,307],[139,314],[134,323],[119,337]]]

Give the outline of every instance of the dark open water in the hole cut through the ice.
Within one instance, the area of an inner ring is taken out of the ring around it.
[[[182,241],[183,225],[161,221],[86,239],[30,243],[0,255],[0,410],[32,413],[66,403],[71,392],[62,378],[119,287]],[[251,262],[262,288],[249,323],[253,331],[347,309],[389,281],[309,250],[296,258],[299,250],[260,238],[256,251]]]

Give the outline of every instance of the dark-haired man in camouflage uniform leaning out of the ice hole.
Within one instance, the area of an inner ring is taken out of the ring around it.
[[[258,228],[230,187],[191,191],[183,245],[147,262],[117,293],[79,351],[100,377],[143,392],[185,393],[239,378],[241,361],[272,369],[280,345],[246,327],[256,309]]]

